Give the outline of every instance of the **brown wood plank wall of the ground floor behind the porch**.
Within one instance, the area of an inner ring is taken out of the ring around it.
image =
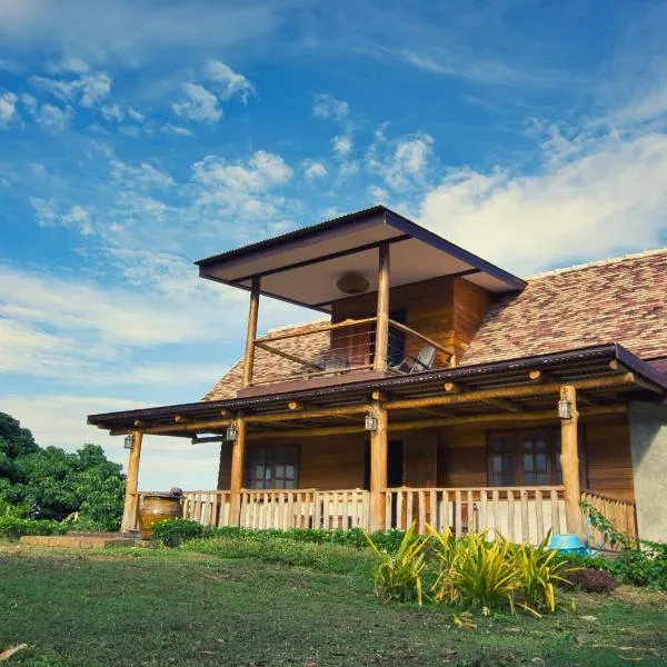
[[[517,430],[556,427],[539,422],[520,422]],[[504,431],[512,430],[502,424]],[[489,425],[466,425],[415,432],[391,435],[391,440],[404,441],[402,484],[412,488],[480,488],[492,486],[489,479]],[[633,467],[627,417],[606,416],[584,420],[581,487],[598,494],[634,499]],[[364,434],[349,436],[299,438],[299,488],[321,490],[365,488],[368,462],[367,438]],[[288,440],[267,440],[267,445],[282,446]],[[247,445],[246,456],[262,447],[261,440]],[[231,447],[221,449],[218,488],[229,488]]]

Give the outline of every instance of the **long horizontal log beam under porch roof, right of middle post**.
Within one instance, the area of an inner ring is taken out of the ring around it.
[[[635,376],[626,372],[619,376],[591,378],[586,380],[575,380],[573,386],[581,389],[614,389],[624,386],[634,385]],[[386,404],[388,410],[401,410],[407,408],[428,408],[432,406],[450,406],[457,404],[485,401],[496,398],[525,398],[530,396],[542,396],[547,394],[558,394],[560,385],[521,385],[519,387],[500,387],[496,389],[481,389],[476,391],[464,391],[454,396],[432,396],[428,398],[407,398],[402,400],[392,400]]]

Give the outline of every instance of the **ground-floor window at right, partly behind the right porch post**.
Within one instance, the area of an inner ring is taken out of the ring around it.
[[[579,445],[584,441],[579,431]],[[584,450],[579,447],[580,476],[585,479]],[[488,440],[491,486],[555,486],[563,484],[560,429],[491,431]]]

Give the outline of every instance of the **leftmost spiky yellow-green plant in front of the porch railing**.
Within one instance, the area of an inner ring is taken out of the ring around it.
[[[428,539],[415,532],[414,522],[406,530],[395,554],[378,547],[369,536],[366,539],[378,560],[374,568],[378,597],[401,603],[417,598],[417,603],[421,605],[422,575],[426,568],[424,551]]]

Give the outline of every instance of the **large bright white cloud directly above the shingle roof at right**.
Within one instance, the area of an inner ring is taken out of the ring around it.
[[[541,172],[451,171],[424,197],[420,219],[522,273],[659,246],[667,136],[556,136],[545,139]]]

